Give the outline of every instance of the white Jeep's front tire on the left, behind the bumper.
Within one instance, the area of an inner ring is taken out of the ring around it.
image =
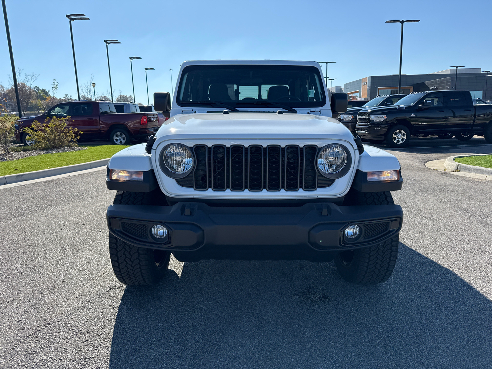
[[[158,205],[165,201],[159,189],[152,192],[118,191],[113,204]],[[166,274],[171,252],[137,247],[109,234],[109,255],[118,280],[129,285],[158,283]]]

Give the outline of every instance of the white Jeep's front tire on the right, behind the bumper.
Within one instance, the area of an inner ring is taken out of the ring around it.
[[[351,190],[344,205],[393,205],[390,192],[359,192]],[[398,235],[379,245],[341,251],[335,255],[338,273],[347,282],[381,283],[391,277],[398,256]]]

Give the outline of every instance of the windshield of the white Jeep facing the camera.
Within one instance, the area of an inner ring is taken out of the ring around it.
[[[176,97],[180,106],[215,110],[212,101],[236,108],[326,104],[319,70],[304,65],[190,65]]]

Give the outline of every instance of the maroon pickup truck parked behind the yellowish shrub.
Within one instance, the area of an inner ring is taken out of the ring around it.
[[[70,116],[68,126],[84,132],[81,138],[85,141],[108,139],[115,145],[139,142],[159,129],[157,113],[118,114],[109,101],[70,101],[55,105],[42,115],[19,119],[15,124],[17,141],[27,145],[24,128],[33,121],[44,123],[47,117],[55,116]]]

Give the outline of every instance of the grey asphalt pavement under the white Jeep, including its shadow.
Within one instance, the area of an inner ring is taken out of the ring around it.
[[[0,189],[0,368],[491,368],[492,183],[424,163],[492,145],[421,140],[391,151],[405,218],[375,286],[333,262],[174,258],[124,286],[104,171]]]

